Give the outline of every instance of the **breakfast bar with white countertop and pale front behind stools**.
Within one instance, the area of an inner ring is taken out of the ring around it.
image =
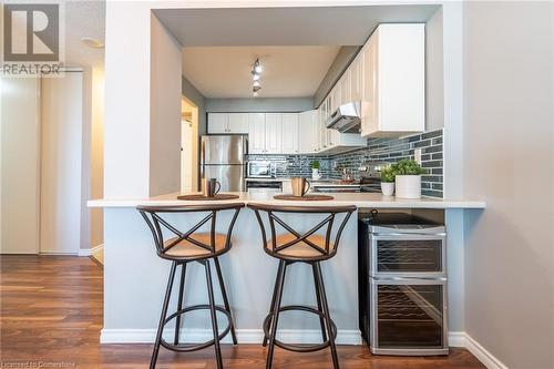
[[[445,212],[485,206],[479,201],[399,199],[371,193],[336,193],[332,194],[335,199],[322,202],[277,201],[273,198],[273,194],[267,193],[238,193],[238,199],[227,202],[312,206],[357,205],[366,208],[442,208]],[[104,208],[104,326],[101,331],[101,342],[131,344],[154,340],[171,263],[156,255],[152,234],[135,206],[214,204],[205,201],[178,201],[176,196],[175,193],[152,198],[89,202],[91,207]],[[171,221],[182,229],[188,229],[199,219],[199,215],[192,214],[170,216]],[[217,232],[226,232],[229,216],[230,214],[218,215]],[[279,216],[298,230],[307,230],[320,222],[320,216],[312,214]],[[338,329],[337,344],[340,345],[362,342],[358,329],[357,229],[357,213],[355,213],[343,229],[337,255],[321,264],[331,317]],[[452,254],[455,254],[455,249]],[[261,324],[271,300],[278,262],[264,253],[258,223],[250,209],[245,208],[240,212],[233,232],[233,248],[220,256],[219,260],[235,317],[238,341],[259,345],[263,339]],[[458,263],[455,257],[452,260]],[[187,267],[185,305],[206,304],[204,278],[202,266],[192,264]],[[220,301],[218,293],[216,299]],[[460,316],[462,311],[455,305],[456,300],[452,301],[454,305],[449,307],[451,316]],[[287,269],[284,305],[293,304],[315,305],[311,269],[300,263]],[[174,307],[173,298],[171,308]],[[219,317],[219,319],[225,318]],[[184,321],[184,335],[188,341],[198,342],[212,338],[209,319],[206,315],[191,314]],[[279,328],[283,329],[281,338],[288,342],[319,342],[321,339],[318,320],[305,315],[284,314],[279,319]],[[171,334],[171,329],[166,329],[166,335]],[[224,341],[229,342],[229,338]]]

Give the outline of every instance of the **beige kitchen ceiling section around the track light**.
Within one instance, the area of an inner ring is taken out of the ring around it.
[[[206,98],[252,98],[252,65],[264,65],[260,96],[312,96],[340,47],[184,48],[183,74]]]

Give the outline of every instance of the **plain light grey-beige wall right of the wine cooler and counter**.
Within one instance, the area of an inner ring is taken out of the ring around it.
[[[509,368],[554,368],[554,3],[464,18],[465,330]]]

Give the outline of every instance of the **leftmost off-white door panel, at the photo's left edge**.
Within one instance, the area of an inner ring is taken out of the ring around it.
[[[0,253],[39,252],[40,79],[0,76]]]

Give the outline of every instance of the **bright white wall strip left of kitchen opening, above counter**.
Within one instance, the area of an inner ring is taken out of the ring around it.
[[[150,195],[150,6],[147,2],[106,2],[106,198]]]

